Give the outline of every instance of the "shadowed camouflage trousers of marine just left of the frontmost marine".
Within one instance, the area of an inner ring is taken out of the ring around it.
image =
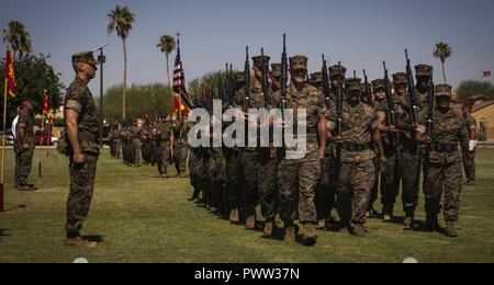
[[[276,217],[280,200],[277,185],[278,159],[272,151],[276,149],[259,159],[259,196],[262,217],[267,219]]]

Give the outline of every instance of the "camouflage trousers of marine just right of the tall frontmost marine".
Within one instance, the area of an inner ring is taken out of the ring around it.
[[[372,160],[341,163],[338,170],[338,212],[344,225],[366,224],[366,212],[375,170]]]

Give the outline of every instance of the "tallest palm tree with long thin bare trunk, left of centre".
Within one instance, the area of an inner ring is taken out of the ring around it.
[[[126,93],[127,93],[127,46],[126,39],[131,33],[132,25],[135,22],[135,14],[128,10],[127,7],[116,5],[115,10],[112,10],[108,14],[110,21],[108,22],[108,33],[111,34],[116,30],[116,34],[122,38],[123,49],[124,49],[124,86],[122,94],[122,117],[125,119],[125,107],[126,107]]]

